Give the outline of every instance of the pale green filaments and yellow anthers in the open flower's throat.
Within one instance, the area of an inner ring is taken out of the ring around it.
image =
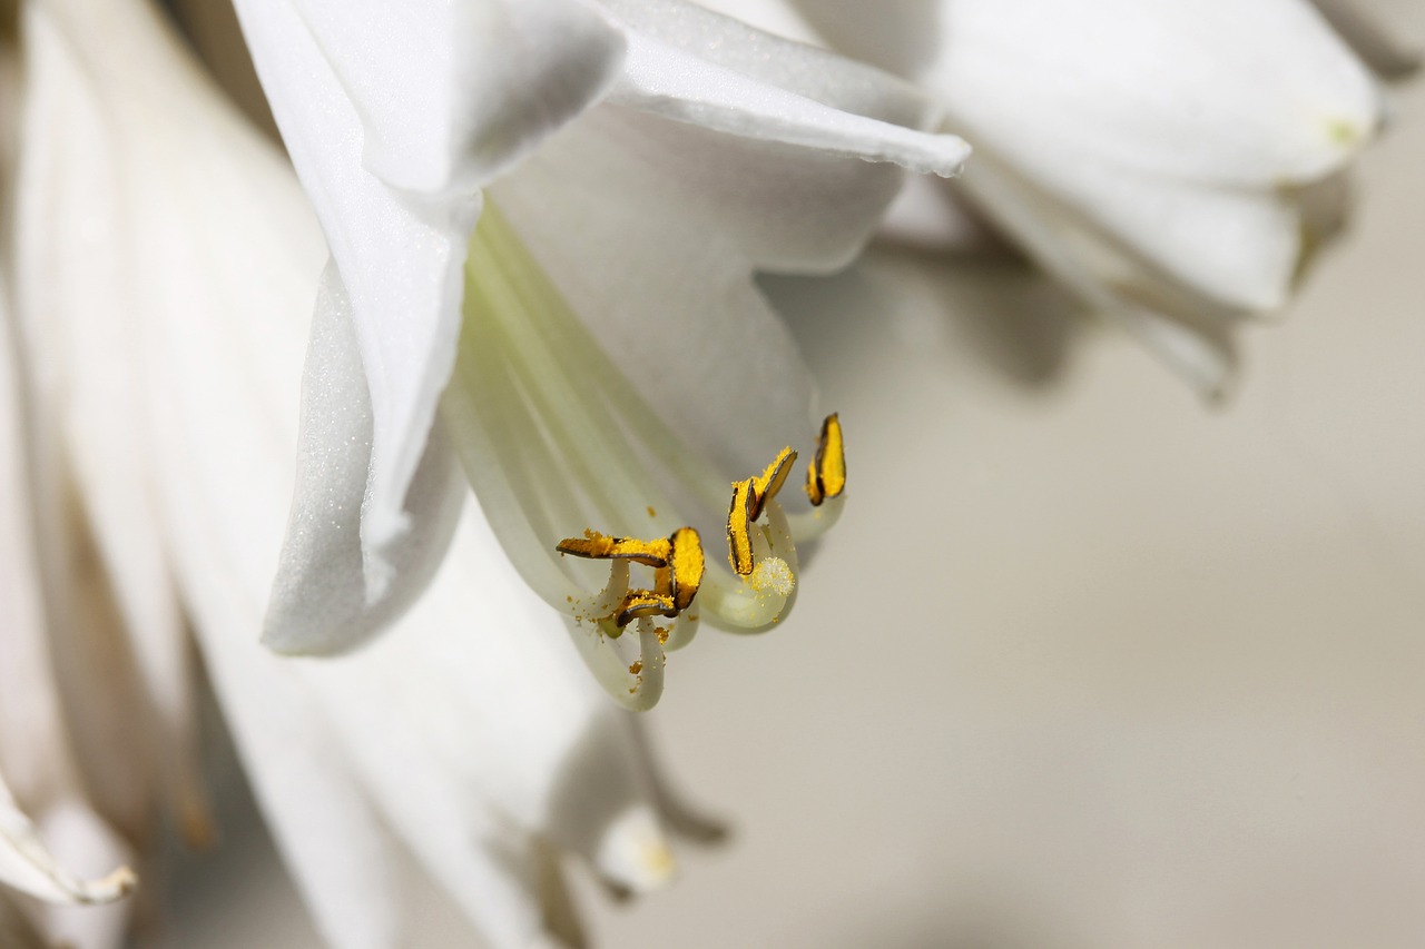
[[[808,472],[814,509],[789,514],[777,500],[791,447],[730,486],[640,395],[489,199],[442,418],[506,554],[630,708],[657,702],[664,650],[687,645],[701,617],[757,633],[787,614],[797,543],[835,523],[845,487],[836,416]],[[690,526],[724,510],[731,570],[705,559]],[[634,581],[633,569],[648,576]]]

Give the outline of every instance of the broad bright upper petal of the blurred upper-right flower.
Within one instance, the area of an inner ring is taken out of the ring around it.
[[[922,77],[1010,160],[1093,151],[1144,174],[1271,188],[1359,148],[1381,97],[1301,0],[945,0]]]

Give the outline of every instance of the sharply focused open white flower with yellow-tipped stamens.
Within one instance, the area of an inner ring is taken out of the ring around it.
[[[815,416],[751,274],[844,264],[893,164],[950,174],[963,142],[915,131],[933,115],[881,73],[675,0],[237,7],[332,248],[266,643],[341,651],[406,608],[460,466],[628,707],[657,701],[661,641],[687,643],[700,613],[775,623],[794,540],[832,516],[772,500],[778,449]],[[834,419],[822,443],[835,467]],[[734,479],[750,516],[711,530],[741,553],[704,574],[683,529],[728,520]],[[630,560],[661,579],[630,590]],[[631,655],[613,645],[626,623]]]

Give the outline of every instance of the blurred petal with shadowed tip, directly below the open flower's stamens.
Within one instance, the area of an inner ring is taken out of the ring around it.
[[[482,854],[520,835],[583,854],[630,889],[667,878],[671,858],[623,712],[473,507],[392,636],[304,671],[342,731],[359,735],[351,752],[390,819],[492,936],[536,922],[529,898],[490,878]],[[523,922],[502,918],[520,912]]]

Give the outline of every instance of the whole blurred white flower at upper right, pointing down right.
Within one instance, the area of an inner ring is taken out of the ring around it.
[[[976,145],[956,194],[1208,395],[1230,380],[1233,325],[1281,308],[1337,224],[1312,197],[1382,117],[1305,0],[710,6],[815,30],[931,90]],[[953,214],[923,197],[903,205]]]

